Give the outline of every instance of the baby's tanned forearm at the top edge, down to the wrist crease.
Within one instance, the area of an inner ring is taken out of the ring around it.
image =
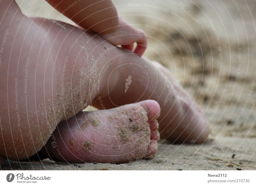
[[[111,0],[47,0],[56,10],[80,27],[109,33],[118,26],[118,14]]]

